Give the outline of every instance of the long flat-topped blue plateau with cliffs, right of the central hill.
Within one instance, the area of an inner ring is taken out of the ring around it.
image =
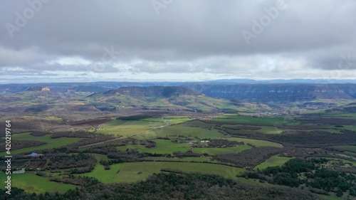
[[[189,85],[189,88],[215,98],[241,99],[252,102],[296,102],[324,100],[356,100],[355,84],[334,85]]]

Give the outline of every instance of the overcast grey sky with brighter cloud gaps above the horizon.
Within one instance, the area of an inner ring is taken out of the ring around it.
[[[0,27],[0,83],[356,79],[354,0],[11,0]]]

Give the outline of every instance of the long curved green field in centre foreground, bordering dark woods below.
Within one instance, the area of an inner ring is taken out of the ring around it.
[[[182,172],[217,174],[231,179],[237,179],[236,174],[245,172],[245,169],[229,167],[221,164],[194,162],[127,162],[123,164],[120,172],[115,175],[113,182],[132,183],[136,181],[142,181],[147,179],[147,177],[149,177],[151,174],[159,173],[161,169],[174,169],[180,170]]]

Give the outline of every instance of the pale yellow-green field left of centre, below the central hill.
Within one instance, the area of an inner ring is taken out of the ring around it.
[[[99,130],[97,130],[96,133],[129,136],[147,130],[152,130],[154,128],[163,125],[166,125],[166,123],[162,121],[153,122],[153,121],[143,121],[143,120],[138,120],[138,121],[112,120],[110,122],[106,122],[102,125],[99,125]]]

